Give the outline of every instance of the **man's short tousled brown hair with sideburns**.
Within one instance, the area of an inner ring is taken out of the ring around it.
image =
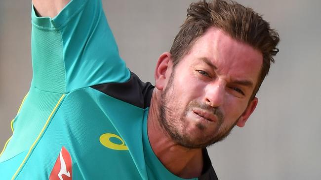
[[[251,96],[253,99],[269,72],[271,62],[274,62],[273,57],[279,52],[276,48],[280,41],[278,32],[271,29],[270,24],[253,9],[235,1],[203,0],[191,3],[187,9],[186,21],[170,49],[174,67],[210,27],[223,30],[234,39],[250,45],[263,54],[261,74]]]

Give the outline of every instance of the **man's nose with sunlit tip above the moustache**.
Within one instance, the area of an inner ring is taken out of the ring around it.
[[[224,102],[225,85],[223,82],[208,84],[205,88],[205,102],[212,107],[219,107]]]

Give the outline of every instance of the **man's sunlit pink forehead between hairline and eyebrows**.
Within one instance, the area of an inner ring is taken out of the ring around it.
[[[183,58],[192,66],[206,65],[204,59],[217,67],[219,75],[247,78],[253,83],[257,82],[263,63],[261,52],[217,28],[209,28]]]

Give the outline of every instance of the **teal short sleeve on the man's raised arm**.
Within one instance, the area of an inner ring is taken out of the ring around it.
[[[67,93],[130,77],[101,0],[72,0],[54,18],[32,9],[32,85]]]

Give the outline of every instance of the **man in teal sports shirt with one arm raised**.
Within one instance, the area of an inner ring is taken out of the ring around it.
[[[154,88],[120,59],[100,0],[33,3],[34,75],[4,179],[217,179],[206,147],[257,105],[278,52],[267,22],[236,2],[192,3]]]

